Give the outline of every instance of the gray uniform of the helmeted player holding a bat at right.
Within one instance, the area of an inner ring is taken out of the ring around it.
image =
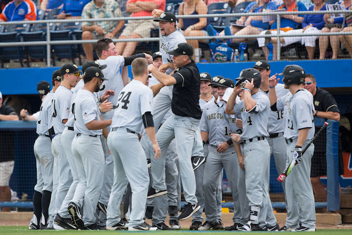
[[[293,161],[293,152],[296,146],[300,129],[309,128],[308,136],[302,148],[314,136],[313,113],[314,105],[305,90],[296,92],[287,103],[287,117],[284,136],[287,142],[286,156],[288,166]],[[287,199],[287,225],[291,228],[302,226],[315,228],[315,203],[312,185],[310,183],[311,159],[314,152],[314,144],[311,144],[302,156],[299,163],[286,178],[286,193],[294,195],[293,199]],[[299,207],[295,205],[298,204]],[[299,209],[299,210],[297,210]],[[288,224],[290,222],[290,224]]]

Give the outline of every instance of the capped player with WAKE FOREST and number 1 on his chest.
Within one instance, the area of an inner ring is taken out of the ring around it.
[[[217,76],[219,77],[219,76]],[[204,198],[205,198],[205,213],[206,221],[198,228],[198,230],[223,229],[222,223],[217,219],[217,205],[215,191],[217,181],[221,175],[222,169],[225,169],[229,187],[234,198],[235,211],[238,214],[238,194],[237,194],[237,160],[233,155],[235,149],[232,145],[230,133],[234,125],[230,125],[229,116],[224,113],[226,103],[223,101],[223,95],[226,88],[234,87],[234,83],[230,79],[221,77],[217,85],[218,101],[211,102],[204,106],[201,130],[202,139],[206,142],[209,139],[209,154],[204,170]],[[221,133],[221,134],[220,134]],[[226,144],[225,144],[226,142]],[[232,146],[230,146],[232,145]]]

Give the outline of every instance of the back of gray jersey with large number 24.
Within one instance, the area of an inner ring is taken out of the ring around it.
[[[125,127],[138,134],[143,132],[142,115],[151,112],[153,92],[140,81],[132,80],[120,92],[111,127]]]

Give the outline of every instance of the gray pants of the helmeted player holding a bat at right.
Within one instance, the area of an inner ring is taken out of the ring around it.
[[[293,152],[297,139],[286,145],[286,166],[293,161]],[[309,141],[303,144],[302,149],[307,146]],[[302,156],[302,161],[296,165],[290,175],[286,178],[285,189],[287,195],[293,195],[293,198],[287,198],[287,219],[286,226],[290,228],[302,226],[315,228],[315,201],[312,184],[310,182],[311,160],[314,153],[314,144],[312,143]],[[296,206],[298,204],[298,206]]]

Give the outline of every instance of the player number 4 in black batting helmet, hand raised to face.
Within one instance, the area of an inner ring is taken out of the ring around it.
[[[258,216],[267,193],[263,187],[267,165],[270,163],[270,146],[267,138],[269,133],[268,118],[269,98],[259,92],[261,76],[254,68],[243,69],[236,79],[244,85],[244,99],[233,107],[234,113],[241,113],[243,120],[242,134],[231,134],[234,141],[243,140],[246,194],[249,200],[250,216],[248,222],[239,228],[243,231],[259,230]],[[249,82],[250,81],[250,82]],[[240,86],[234,90],[235,96],[241,91]]]

